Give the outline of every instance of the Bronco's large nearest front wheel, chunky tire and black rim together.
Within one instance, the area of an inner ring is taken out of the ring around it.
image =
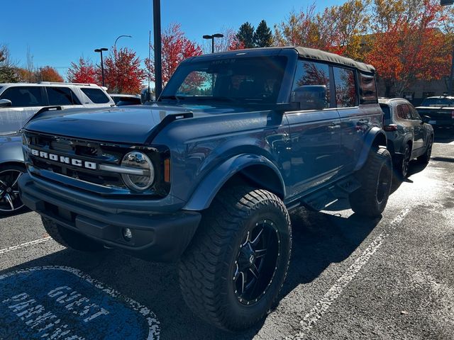
[[[282,288],[291,234],[287,209],[274,194],[244,187],[221,191],[179,265],[187,305],[221,329],[253,326]]]

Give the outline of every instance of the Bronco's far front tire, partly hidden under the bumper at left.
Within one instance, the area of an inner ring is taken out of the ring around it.
[[[48,218],[41,217],[41,220],[43,221],[44,229],[48,232],[49,236],[62,246],[78,251],[89,252],[102,251],[105,249],[102,244],[89,239],[78,232],[62,227]]]

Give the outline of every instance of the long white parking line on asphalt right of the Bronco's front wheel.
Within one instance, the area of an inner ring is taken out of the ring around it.
[[[350,281],[355,278],[356,274],[361,270],[362,266],[364,266],[370,260],[372,255],[375,254],[375,251],[377,251],[380,246],[382,246],[384,239],[389,236],[389,232],[391,232],[392,229],[395,229],[402,222],[402,220],[404,220],[404,217],[409,212],[409,208],[406,208],[399,212],[399,215],[397,215],[397,217],[394,218],[394,220],[392,220],[392,222],[389,224],[388,229],[385,229],[384,232],[375,237],[372,243],[367,246],[365,251],[358,257],[358,259],[356,259],[355,263],[353,263],[350,268],[348,268],[347,271],[345,271],[345,273],[343,273],[343,275],[338,278],[337,282],[328,290],[328,292],[326,292],[325,295],[323,295],[323,297],[316,303],[311,311],[303,317],[301,322],[299,322],[301,324],[302,331],[294,336],[287,336],[287,340],[306,339],[304,334],[307,331],[310,331],[312,327],[314,327],[314,324],[316,324],[316,322],[321,319],[323,314],[326,313],[333,302],[336,301],[339,296],[341,296],[348,283],[350,283]]]

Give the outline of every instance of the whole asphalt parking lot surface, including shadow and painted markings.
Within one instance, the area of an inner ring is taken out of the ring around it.
[[[0,339],[454,339],[454,131],[436,133],[381,219],[292,214],[279,305],[241,334],[194,317],[176,264],[65,249],[34,212],[0,219]]]

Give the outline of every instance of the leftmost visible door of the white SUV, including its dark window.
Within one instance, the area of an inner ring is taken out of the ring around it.
[[[12,103],[12,106],[0,108],[0,132],[20,130],[28,118],[47,105],[43,86],[11,86],[0,99]]]

